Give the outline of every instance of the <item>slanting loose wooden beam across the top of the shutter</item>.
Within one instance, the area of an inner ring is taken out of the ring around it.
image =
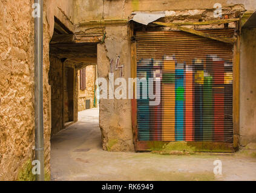
[[[176,24],[169,24],[169,23],[164,23],[164,22],[153,22],[153,24],[163,25],[163,26],[171,27],[171,28],[176,28],[177,30],[180,30],[180,31],[185,31],[185,32],[188,32],[188,33],[191,33],[191,34],[195,34],[197,36],[207,37],[209,39],[217,40],[217,41],[220,41],[220,42],[231,43],[231,44],[233,44],[235,42],[234,39],[230,39],[230,38],[227,38],[227,37],[220,37],[220,36],[216,36],[214,34],[204,33],[202,31],[197,31],[197,30],[186,28],[186,27],[181,27],[181,26],[176,25]]]

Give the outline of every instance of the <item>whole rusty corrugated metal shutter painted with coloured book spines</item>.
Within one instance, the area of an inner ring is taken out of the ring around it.
[[[137,141],[232,142],[233,45],[183,31],[137,32],[136,45],[137,78],[161,80],[158,106],[137,84]]]

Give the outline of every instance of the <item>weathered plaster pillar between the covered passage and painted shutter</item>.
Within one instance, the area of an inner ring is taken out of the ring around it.
[[[106,27],[104,44],[97,49],[98,77],[107,78],[110,72],[110,60],[120,57],[123,64],[123,78],[128,82],[131,77],[131,48],[127,36],[128,28]],[[120,77],[120,70],[114,71],[114,78]],[[117,87],[117,86],[116,86]],[[116,88],[115,87],[115,88]],[[103,149],[108,151],[133,151],[133,131],[131,127],[131,101],[128,99],[100,100],[99,125],[102,130]]]

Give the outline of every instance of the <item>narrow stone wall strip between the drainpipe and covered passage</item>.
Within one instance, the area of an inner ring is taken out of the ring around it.
[[[50,69],[49,43],[51,41],[51,37],[53,36],[54,16],[56,16],[66,27],[73,31],[73,1],[44,1],[44,162],[45,176],[47,176],[47,179],[50,179],[51,136],[51,92],[48,84],[48,72]]]

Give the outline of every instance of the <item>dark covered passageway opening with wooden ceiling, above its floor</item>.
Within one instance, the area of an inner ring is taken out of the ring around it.
[[[56,17],[54,22],[48,73],[51,87],[51,138],[77,122],[79,111],[97,107],[94,96],[97,42],[79,38]],[[84,72],[84,69],[88,71]],[[80,78],[80,72],[84,73],[84,77]]]

